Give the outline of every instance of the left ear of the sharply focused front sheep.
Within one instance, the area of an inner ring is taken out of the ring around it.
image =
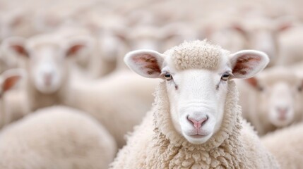
[[[163,61],[163,54],[146,49],[131,51],[124,57],[131,70],[148,78],[160,78]]]

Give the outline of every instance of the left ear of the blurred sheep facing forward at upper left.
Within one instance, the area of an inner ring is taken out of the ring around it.
[[[13,51],[18,56],[28,57],[28,51],[25,49],[25,39],[22,37],[8,37],[3,42],[4,49]]]

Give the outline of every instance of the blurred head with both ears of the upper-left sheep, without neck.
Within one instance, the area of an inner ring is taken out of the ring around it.
[[[52,94],[66,80],[66,58],[75,56],[86,42],[79,39],[66,42],[59,37],[38,35],[27,41],[11,37],[5,43],[18,56],[25,58],[29,80],[35,88],[44,94]]]

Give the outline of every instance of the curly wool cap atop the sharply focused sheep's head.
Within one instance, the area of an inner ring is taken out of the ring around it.
[[[205,39],[203,41],[183,42],[179,46],[165,51],[164,54],[170,57],[176,70],[217,70],[222,65],[222,61],[227,61],[223,57],[227,57],[229,51],[225,51],[218,45],[210,44]]]

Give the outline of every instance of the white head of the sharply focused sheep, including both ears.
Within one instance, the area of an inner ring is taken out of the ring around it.
[[[205,43],[198,42],[198,45]],[[201,50],[206,46],[214,47],[206,44]],[[239,51],[230,55],[220,48],[214,48],[218,51],[207,48],[206,52],[194,55],[191,52],[195,49],[183,52],[185,58],[176,57],[180,54],[177,48],[165,54],[150,50],[132,51],[126,54],[124,61],[139,75],[166,80],[174,129],[192,144],[203,144],[220,129],[228,80],[258,73],[268,63],[268,57],[259,51]],[[195,65],[191,59],[205,65]]]

